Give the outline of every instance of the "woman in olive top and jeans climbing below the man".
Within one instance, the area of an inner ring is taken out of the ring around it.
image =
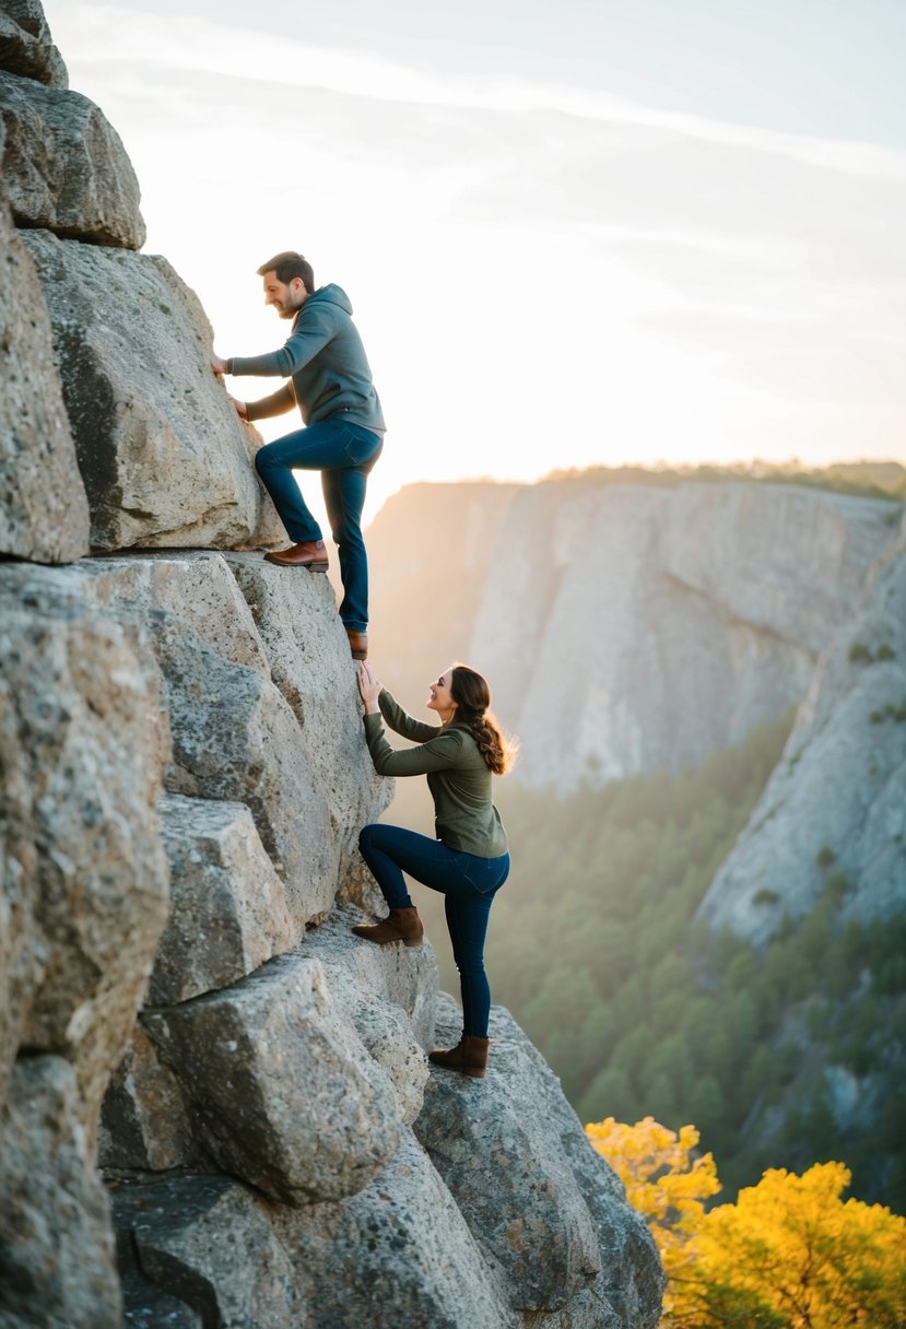
[[[510,870],[506,831],[492,801],[492,775],[509,769],[513,747],[489,714],[488,683],[465,664],[453,664],[429,687],[428,708],[440,716],[440,727],[407,715],[367,663],[359,666],[359,691],[375,769],[428,776],[437,839],[380,823],[364,828],[359,848],[391,912],[383,922],[352,930],[377,945],[421,944],[424,928],[404,872],[446,897],[446,925],[462,989],[462,1038],[456,1047],[429,1055],[436,1066],[481,1079],[488,1065],[490,1011],[484,960],[488,914]],[[418,747],[395,752],[381,716]]]

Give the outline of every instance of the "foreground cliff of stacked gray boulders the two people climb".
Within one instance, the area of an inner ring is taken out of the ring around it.
[[[392,785],[329,583],[243,552],[258,439],[35,0],[0,66],[0,1326],[650,1329],[537,1051],[429,1074],[430,946],[351,933]]]

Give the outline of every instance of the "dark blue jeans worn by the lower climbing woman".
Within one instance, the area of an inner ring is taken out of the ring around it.
[[[404,872],[445,896],[446,926],[462,990],[462,1033],[486,1038],[490,987],[485,974],[485,936],[494,896],[510,870],[509,853],[481,859],[380,821],[364,828],[359,848],[391,909],[412,906]]]

